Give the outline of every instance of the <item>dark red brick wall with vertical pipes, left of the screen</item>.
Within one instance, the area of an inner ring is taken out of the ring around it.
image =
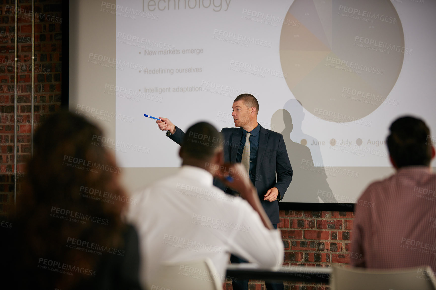
[[[34,121],[61,107],[62,1],[35,0]],[[14,203],[14,51],[17,49],[17,181],[31,154],[32,3],[19,0],[17,47],[15,1],[0,0],[0,216]],[[40,14],[41,13],[41,14]],[[56,18],[57,17],[57,18]],[[18,183],[17,189],[20,189]]]

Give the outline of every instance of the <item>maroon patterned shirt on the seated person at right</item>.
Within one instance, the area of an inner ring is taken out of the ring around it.
[[[350,263],[436,270],[436,175],[408,166],[368,186],[355,207]]]

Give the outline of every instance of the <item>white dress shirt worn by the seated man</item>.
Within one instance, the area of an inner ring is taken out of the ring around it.
[[[267,229],[245,199],[215,187],[204,169],[184,165],[133,198],[128,219],[140,237],[144,286],[164,262],[208,257],[222,282],[230,253],[261,267],[283,263],[280,231]]]

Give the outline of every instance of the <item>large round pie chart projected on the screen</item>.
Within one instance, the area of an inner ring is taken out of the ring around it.
[[[330,122],[355,121],[382,105],[404,54],[411,51],[389,0],[294,0],[280,35],[290,91]]]

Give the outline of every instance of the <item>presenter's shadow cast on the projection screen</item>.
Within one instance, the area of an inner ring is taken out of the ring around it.
[[[291,117],[289,111],[279,109],[271,117],[271,124],[274,124],[274,131],[283,135],[293,170],[292,182],[285,195],[287,196],[286,199],[289,200],[290,196],[304,196],[304,198],[299,199],[298,202],[337,203],[327,183],[327,175],[324,166],[314,166],[322,163],[317,163],[316,161],[314,163],[309,147],[293,142],[291,139],[291,132],[293,132],[293,130],[302,133],[301,124],[304,113],[303,108],[297,100],[294,99],[290,101],[295,101],[293,106],[300,106],[301,114],[294,114]],[[288,105],[288,103],[290,102],[288,101],[286,105]],[[299,108],[294,108],[293,111],[296,111],[295,109],[298,110]],[[315,140],[309,135],[306,136],[309,137],[307,138],[309,140]],[[319,146],[317,146],[317,150],[320,152]]]

